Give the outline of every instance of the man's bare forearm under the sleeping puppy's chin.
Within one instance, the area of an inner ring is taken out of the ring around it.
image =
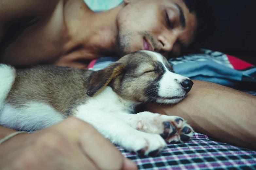
[[[214,83],[193,82],[189,95],[179,104],[152,104],[147,110],[180,116],[199,133],[255,150],[256,97]]]

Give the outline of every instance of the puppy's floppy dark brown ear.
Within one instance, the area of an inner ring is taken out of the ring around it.
[[[89,77],[89,89],[86,94],[92,97],[103,90],[113,78],[122,73],[124,68],[124,64],[113,63],[103,70],[92,72]]]

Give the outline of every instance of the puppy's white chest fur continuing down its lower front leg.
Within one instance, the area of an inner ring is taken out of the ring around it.
[[[99,103],[103,105],[99,106]],[[76,117],[97,127],[103,136],[128,150],[137,151],[147,146],[146,154],[148,154],[159,147],[164,148],[166,143],[160,135],[137,131],[126,122],[135,116],[130,114],[134,106],[136,104],[121,99],[111,87],[106,87],[88,104],[79,106]],[[104,126],[102,122],[107,122],[107,124]]]

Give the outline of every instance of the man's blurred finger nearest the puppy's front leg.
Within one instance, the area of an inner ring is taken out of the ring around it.
[[[124,157],[120,151],[92,125],[70,118],[54,128],[59,131],[65,129],[64,135],[76,142],[100,169],[119,170],[123,167]],[[125,161],[125,163],[127,163],[126,166],[130,165],[130,162]]]

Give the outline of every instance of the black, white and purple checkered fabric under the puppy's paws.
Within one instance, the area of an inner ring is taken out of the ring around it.
[[[187,143],[169,144],[161,155],[146,157],[117,147],[139,169],[256,169],[256,151],[231,146],[206,135],[194,133]]]

